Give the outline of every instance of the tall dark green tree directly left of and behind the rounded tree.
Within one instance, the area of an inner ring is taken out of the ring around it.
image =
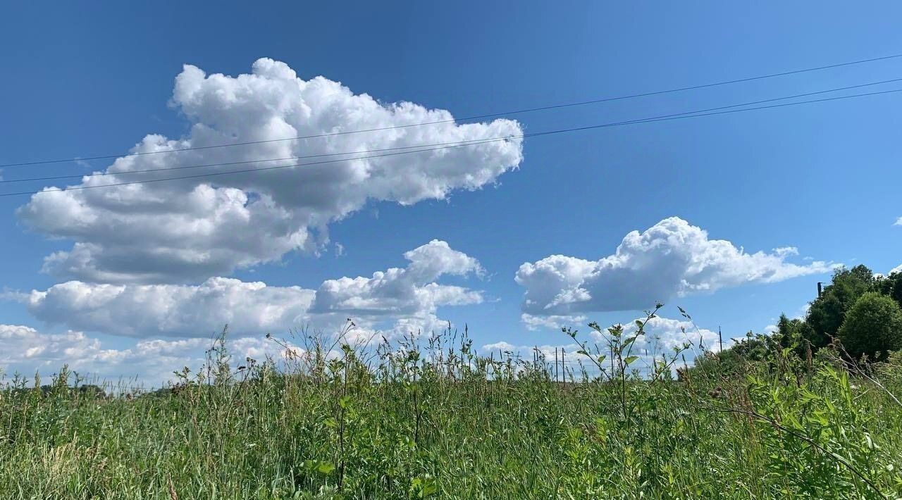
[[[830,337],[836,336],[846,312],[861,295],[872,289],[874,281],[874,273],[863,265],[833,272],[833,282],[811,303],[805,318],[805,323],[811,327],[806,338],[815,348],[830,343]]]

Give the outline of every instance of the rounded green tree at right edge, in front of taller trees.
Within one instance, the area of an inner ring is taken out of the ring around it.
[[[855,357],[902,349],[902,309],[887,295],[861,295],[845,314],[839,338]]]

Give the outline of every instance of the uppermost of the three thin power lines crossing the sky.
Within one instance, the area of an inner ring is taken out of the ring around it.
[[[404,125],[391,125],[388,127],[378,127],[378,128],[373,128],[373,129],[363,129],[363,130],[343,131],[343,132],[327,132],[327,133],[319,133],[319,134],[314,134],[314,135],[301,135],[301,136],[297,136],[297,137],[286,137],[286,138],[282,138],[282,139],[267,139],[267,140],[262,140],[262,141],[230,142],[230,143],[226,143],[226,144],[214,144],[214,145],[210,145],[210,146],[196,146],[196,147],[191,147],[191,148],[179,148],[179,149],[173,149],[173,150],[139,151],[139,152],[134,152],[134,153],[126,153],[126,154],[98,155],[98,156],[66,158],[66,159],[41,159],[41,160],[35,160],[35,161],[23,161],[23,162],[16,162],[16,163],[0,164],[0,168],[25,167],[25,166],[29,166],[29,165],[64,163],[64,162],[78,161],[78,160],[87,161],[87,160],[92,160],[92,159],[115,159],[115,158],[124,158],[124,157],[130,157],[130,156],[145,156],[145,155],[154,155],[154,154],[163,154],[163,153],[173,153],[173,152],[179,152],[179,151],[211,150],[211,149],[216,149],[216,148],[227,148],[227,147],[232,147],[232,146],[245,146],[245,145],[250,145],[250,144],[263,144],[263,143],[268,143],[268,142],[316,139],[319,137],[331,137],[331,136],[336,136],[336,135],[346,135],[346,134],[352,134],[352,133],[381,132],[381,131],[394,130],[394,129],[404,129],[404,128],[409,128],[409,127],[419,127],[419,126],[423,126],[423,125],[436,125],[439,123],[465,122],[468,120],[492,118],[492,117],[497,117],[497,116],[505,116],[505,115],[509,115],[509,114],[533,113],[533,112],[537,112],[537,111],[548,111],[548,110],[552,110],[552,109],[561,109],[561,108],[574,107],[574,106],[580,106],[580,105],[594,105],[594,104],[599,104],[599,103],[607,103],[607,102],[611,102],[611,101],[620,101],[620,100],[624,100],[624,99],[634,99],[637,97],[648,97],[651,95],[672,94],[675,92],[684,92],[687,90],[696,90],[696,89],[700,89],[700,88],[709,88],[709,87],[713,87],[713,86],[732,85],[732,84],[736,84],[736,83],[750,82],[750,81],[761,80],[761,79],[765,79],[765,78],[786,77],[788,75],[796,75],[799,73],[806,73],[809,71],[820,71],[820,70],[830,69],[830,68],[841,68],[844,66],[852,66],[852,65],[856,65],[856,64],[864,64],[864,63],[869,63],[869,62],[876,62],[876,61],[880,61],[880,60],[897,59],[897,58],[902,58],[902,54],[894,54],[894,55],[883,56],[883,57],[879,57],[879,58],[852,60],[852,61],[841,62],[841,63],[836,63],[836,64],[829,64],[826,66],[818,66],[815,68],[793,69],[790,71],[783,71],[780,73],[771,73],[769,75],[759,75],[757,77],[736,78],[736,79],[732,79],[732,80],[726,80],[726,81],[720,81],[720,82],[714,82],[714,83],[708,83],[708,84],[701,84],[701,85],[694,85],[694,86],[681,86],[681,87],[677,87],[677,88],[668,88],[666,90],[656,90],[656,91],[652,91],[652,92],[644,92],[644,93],[640,93],[640,94],[617,95],[617,96],[613,96],[613,97],[601,97],[601,98],[591,99],[591,100],[587,100],[587,101],[577,101],[577,102],[564,103],[564,104],[559,104],[559,105],[543,105],[543,106],[537,106],[537,107],[530,107],[530,108],[523,108],[523,109],[517,109],[517,110],[512,110],[512,111],[500,112],[500,113],[477,114],[474,116],[465,116],[463,118],[455,118],[455,119],[449,119],[449,120],[437,120],[434,122],[408,123],[408,124],[404,124]]]

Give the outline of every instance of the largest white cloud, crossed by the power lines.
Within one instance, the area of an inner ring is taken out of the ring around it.
[[[172,104],[191,121],[180,139],[148,135],[135,153],[229,148],[125,156],[85,177],[100,186],[201,172],[291,165],[289,159],[348,151],[406,148],[520,135],[510,120],[437,123],[381,132],[272,141],[332,132],[380,129],[451,120],[443,110],[411,103],[383,105],[325,77],[303,80],[287,65],[259,59],[249,75],[207,76],[185,66],[176,78]],[[477,189],[516,168],[520,139],[370,159],[131,186],[72,190],[48,188],[18,211],[33,229],[75,241],[72,250],[45,260],[44,270],[62,277],[107,283],[185,283],[253,266],[291,250],[318,250],[327,224],[368,200],[410,205],[442,199],[455,189]],[[259,162],[260,159],[289,159]],[[219,162],[242,165],[127,175],[134,170]]]

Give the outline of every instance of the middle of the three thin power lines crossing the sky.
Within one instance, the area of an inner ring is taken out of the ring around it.
[[[899,82],[899,81],[902,81],[902,78],[893,78],[893,79],[889,79],[889,80],[881,80],[881,81],[878,81],[878,82],[870,82],[870,83],[865,83],[865,84],[860,84],[860,85],[854,85],[854,86],[842,86],[842,87],[836,87],[836,88],[829,88],[829,89],[826,89],[826,90],[818,90],[818,91],[815,91],[815,92],[807,92],[807,93],[804,93],[804,94],[786,95],[786,96],[782,96],[782,97],[773,97],[773,98],[770,98],[770,99],[763,99],[763,100],[759,100],[759,101],[751,101],[751,102],[748,102],[748,103],[740,103],[740,104],[736,104],[736,105],[723,105],[723,106],[717,106],[717,107],[707,108],[707,109],[701,109],[701,110],[686,111],[686,112],[683,112],[683,113],[663,114],[663,115],[659,115],[659,116],[652,116],[652,117],[649,117],[649,118],[641,118],[641,119],[638,119],[638,120],[630,120],[630,121],[627,121],[627,122],[608,123],[608,125],[640,123],[640,122],[645,121],[645,120],[658,120],[658,119],[662,119],[662,118],[670,118],[670,117],[682,116],[682,115],[686,115],[686,114],[700,114],[700,113],[707,113],[707,112],[718,111],[718,110],[723,110],[723,109],[730,109],[730,108],[741,107],[741,106],[760,105],[760,104],[764,104],[764,103],[772,103],[772,102],[775,102],[775,101],[784,101],[784,100],[787,100],[787,99],[796,99],[796,98],[798,98],[798,97],[806,97],[806,96],[810,96],[810,95],[828,94],[828,93],[831,93],[831,92],[840,92],[840,91],[843,91],[843,90],[851,90],[852,88],[861,88],[861,87],[864,87],[864,86],[877,86],[877,85],[888,84],[888,83],[894,83],[894,82]],[[313,154],[313,155],[292,156],[292,157],[286,157],[286,158],[274,158],[274,159],[245,159],[245,160],[240,160],[240,161],[229,161],[229,162],[221,162],[221,163],[205,163],[205,164],[200,164],[200,165],[187,165],[187,166],[180,166],[180,167],[147,168],[147,169],[143,169],[143,170],[128,170],[128,171],[124,171],[124,172],[110,172],[110,171],[106,171],[106,172],[98,172],[98,173],[94,173],[94,174],[75,174],[75,175],[66,175],[66,176],[47,176],[47,177],[27,177],[27,178],[17,178],[17,179],[0,179],[0,184],[13,184],[13,183],[19,183],[19,182],[30,182],[30,181],[39,181],[39,180],[59,180],[59,179],[66,179],[66,178],[121,176],[121,175],[129,175],[129,174],[145,174],[145,173],[152,173],[152,172],[163,172],[163,171],[170,171],[170,170],[184,170],[184,169],[192,169],[192,168],[226,167],[226,166],[229,166],[229,165],[246,165],[246,164],[248,164],[248,163],[263,163],[263,162],[270,162],[270,161],[290,161],[290,160],[297,160],[297,159],[322,158],[322,157],[330,157],[330,156],[348,156],[348,155],[357,155],[357,154],[363,154],[363,153],[383,152],[383,151],[393,151],[393,150],[415,150],[415,149],[419,149],[419,148],[430,148],[430,147],[435,147],[435,146],[468,145],[468,143],[471,143],[471,142],[474,143],[474,144],[480,144],[480,143],[483,143],[483,141],[497,141],[497,140],[501,140],[501,139],[519,139],[519,138],[528,138],[528,137],[531,137],[531,136],[536,135],[536,134],[539,134],[539,133],[543,133],[543,132],[526,133],[526,134],[522,134],[522,135],[519,135],[519,136],[493,137],[493,138],[486,138],[486,139],[475,139],[475,140],[471,140],[471,141],[436,142],[436,143],[431,143],[431,144],[418,144],[418,145],[413,145],[413,146],[396,146],[396,147],[392,147],[392,148],[382,148],[382,149],[376,149],[376,150],[346,151],[346,152],[336,152],[336,153],[319,153],[319,154]]]

